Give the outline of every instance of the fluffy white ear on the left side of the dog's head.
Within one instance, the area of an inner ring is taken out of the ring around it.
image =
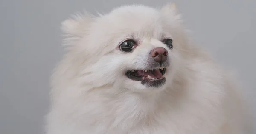
[[[86,12],[76,14],[61,23],[61,30],[69,36],[82,36],[91,22],[93,22],[92,15]]]

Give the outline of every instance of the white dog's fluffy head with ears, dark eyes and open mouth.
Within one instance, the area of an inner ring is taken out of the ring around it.
[[[182,61],[183,29],[174,5],[161,10],[122,6],[100,17],[66,20],[81,80],[94,87],[164,89]],[[167,83],[167,84],[166,84]]]

